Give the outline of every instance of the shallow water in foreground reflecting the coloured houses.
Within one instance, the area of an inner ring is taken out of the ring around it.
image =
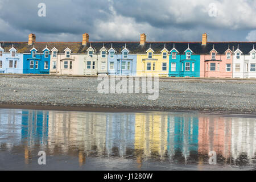
[[[0,109],[1,170],[247,170],[255,148],[255,115]]]

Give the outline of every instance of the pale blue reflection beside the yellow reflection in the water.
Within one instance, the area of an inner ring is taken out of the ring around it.
[[[125,156],[134,151],[133,113],[109,113],[106,117],[106,154]]]

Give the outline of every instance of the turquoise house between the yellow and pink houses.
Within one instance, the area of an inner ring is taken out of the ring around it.
[[[193,53],[189,48],[184,54],[174,48],[170,51],[169,76],[173,77],[200,77],[200,55]]]

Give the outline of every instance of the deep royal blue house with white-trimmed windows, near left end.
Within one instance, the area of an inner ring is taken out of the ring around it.
[[[44,48],[42,53],[35,48],[30,50],[30,53],[23,55],[23,73],[25,74],[49,74],[49,65],[51,55],[49,49]]]

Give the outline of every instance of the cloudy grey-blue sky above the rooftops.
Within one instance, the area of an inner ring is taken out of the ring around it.
[[[255,42],[255,17],[256,0],[0,0],[0,41]]]

